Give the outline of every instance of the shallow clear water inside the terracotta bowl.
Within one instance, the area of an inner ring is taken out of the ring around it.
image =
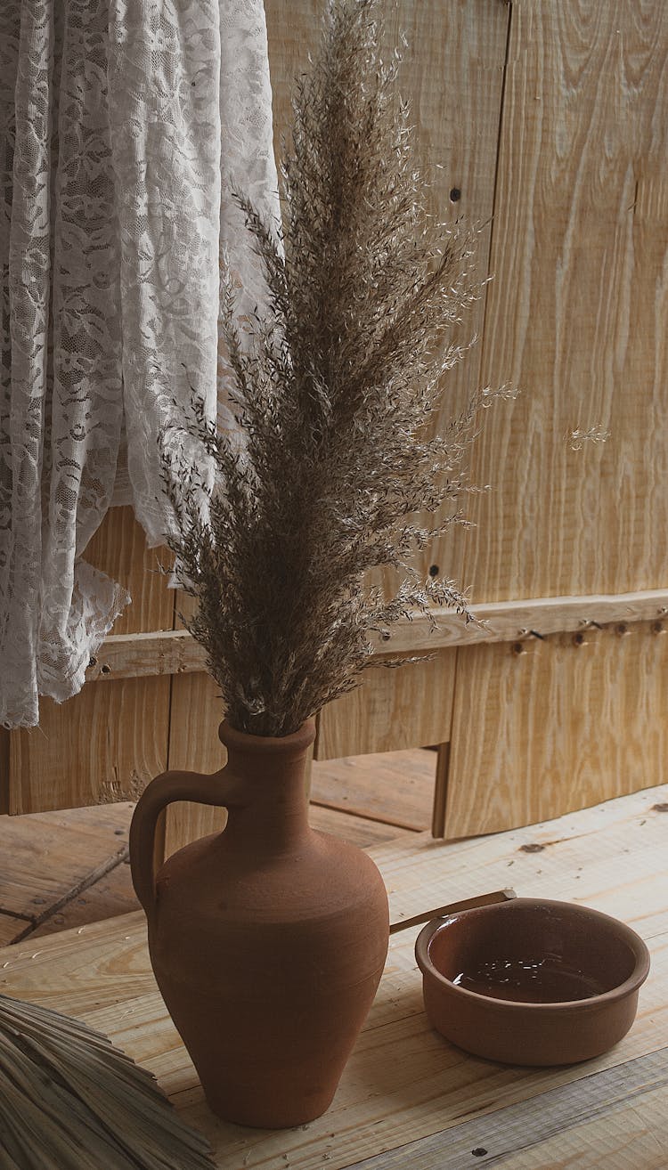
[[[573,999],[591,999],[608,987],[567,963],[559,955],[540,958],[496,958],[477,968],[460,971],[453,979],[457,987],[478,996],[511,999],[524,1004],[556,1004]]]

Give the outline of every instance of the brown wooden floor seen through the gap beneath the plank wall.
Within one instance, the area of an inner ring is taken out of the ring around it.
[[[314,828],[359,846],[428,828],[435,753],[418,749],[314,764]],[[0,817],[0,945],[138,909],[129,803]]]

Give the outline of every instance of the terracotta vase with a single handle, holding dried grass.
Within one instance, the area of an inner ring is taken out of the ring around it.
[[[228,763],[166,772],[130,831],[158,986],[219,1116],[303,1124],[331,1102],[371,1006],[388,941],[383,879],[360,849],[308,824],[312,723],[284,738],[223,723]],[[222,805],[228,823],[153,873],[160,812]]]

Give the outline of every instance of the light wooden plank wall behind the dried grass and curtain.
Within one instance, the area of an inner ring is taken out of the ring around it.
[[[266,0],[278,131],[322,7]],[[388,42],[404,29],[409,44],[401,84],[434,211],[481,225],[480,271],[494,277],[462,326],[478,343],[447,383],[438,426],[480,385],[521,390],[489,412],[473,453],[473,481],[490,484],[470,498],[476,526],[434,542],[420,564],[510,608],[500,638],[462,633],[433,661],[371,672],[322,714],[316,756],[447,744],[440,800],[456,837],[667,778],[668,9],[385,8]],[[126,510],[108,517],[91,558],[135,598],[115,634],[174,628],[154,557]],[[545,624],[545,598],[563,599],[569,620]],[[44,703],[40,729],[0,741],[6,805],[89,803],[167,764],[213,770],[220,707],[197,665],[120,672],[63,708]],[[202,815],[177,810],[167,840],[206,827]]]

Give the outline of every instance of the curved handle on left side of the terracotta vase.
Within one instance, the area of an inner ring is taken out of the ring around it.
[[[245,804],[243,791],[226,765],[219,772],[163,772],[146,785],[130,825],[132,885],[146,916],[156,908],[153,852],[158,817],[175,800],[233,808]]]

